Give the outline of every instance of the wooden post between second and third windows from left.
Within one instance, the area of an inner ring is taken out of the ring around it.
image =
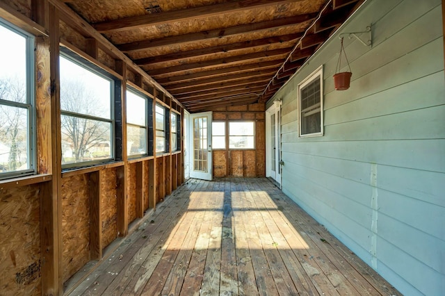
[[[116,102],[115,106],[120,106],[116,108],[116,122],[120,124],[116,125],[117,129],[120,129],[120,157],[124,162],[124,165],[118,167],[116,174],[116,183],[118,186],[118,235],[127,236],[128,233],[128,203],[127,203],[127,99],[125,99],[125,94],[127,91],[127,65],[122,60],[116,60],[116,69],[120,74],[122,74],[122,83],[120,85],[120,101]],[[120,103],[120,104],[119,104]]]

